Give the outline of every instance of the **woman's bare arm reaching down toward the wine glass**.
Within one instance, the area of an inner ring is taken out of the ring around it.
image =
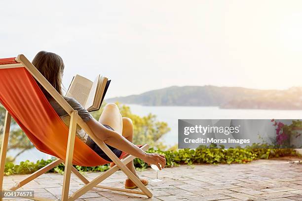
[[[135,156],[137,158],[142,159],[148,164],[157,165],[159,169],[164,167],[166,164],[166,159],[163,155],[160,154],[150,154],[146,153],[138,146],[132,144],[121,134],[118,134],[115,131],[107,129],[100,122],[95,119],[91,119],[87,122],[87,125],[91,129],[91,131],[101,140],[103,140],[106,144],[113,146],[121,151],[127,152],[128,154]],[[160,164],[160,166],[159,166]]]

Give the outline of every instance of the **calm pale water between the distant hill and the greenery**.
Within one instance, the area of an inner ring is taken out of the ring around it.
[[[218,107],[188,107],[188,106],[142,106],[129,104],[134,114],[143,116],[155,114],[159,121],[168,123],[171,131],[162,137],[168,146],[177,143],[178,119],[302,119],[302,110],[254,110],[254,109],[219,109]],[[11,151],[12,156],[16,151]],[[47,159],[44,153],[36,149],[24,152],[16,162],[24,160],[36,161]]]

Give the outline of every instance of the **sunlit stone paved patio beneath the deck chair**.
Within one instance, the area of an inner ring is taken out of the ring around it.
[[[289,159],[259,160],[250,164],[195,165],[165,168],[159,172],[163,183],[148,185],[153,198],[147,199],[127,193],[93,189],[79,201],[302,201],[302,164],[291,163]],[[290,159],[297,160],[297,159]],[[85,173],[92,179],[98,173]],[[154,178],[152,169],[140,172],[142,177]],[[4,188],[26,175],[6,176]],[[105,185],[122,187],[125,176],[117,171],[104,181]],[[59,198],[63,175],[44,174],[30,182],[23,189],[35,191],[39,197]],[[72,175],[71,193],[82,183]],[[13,199],[16,200],[16,199]],[[26,199],[18,199],[24,201]]]

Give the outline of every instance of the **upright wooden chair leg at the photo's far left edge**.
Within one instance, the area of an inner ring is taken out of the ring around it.
[[[5,168],[5,159],[6,159],[6,152],[7,152],[7,145],[8,145],[10,122],[11,122],[11,116],[8,113],[8,111],[6,111],[1,152],[0,152],[0,201],[2,201],[3,177],[4,177],[4,168]]]

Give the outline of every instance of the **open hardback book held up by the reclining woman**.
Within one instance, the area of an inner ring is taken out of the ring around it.
[[[99,110],[111,80],[98,75],[94,82],[76,75],[66,93],[67,97],[75,98],[88,111]]]

